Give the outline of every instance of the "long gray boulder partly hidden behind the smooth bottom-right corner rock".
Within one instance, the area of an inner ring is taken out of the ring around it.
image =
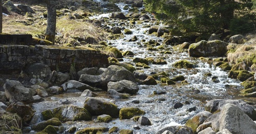
[[[223,106],[227,103],[237,105],[243,112],[245,112],[253,120],[256,120],[256,111],[253,107],[247,104],[243,100],[224,100],[224,99],[214,99],[210,100],[205,104],[205,110],[211,113],[222,111]]]

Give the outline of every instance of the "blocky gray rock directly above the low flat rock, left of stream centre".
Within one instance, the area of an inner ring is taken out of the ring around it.
[[[79,82],[85,83],[94,87],[99,87],[101,83],[101,75],[82,74],[80,75]]]

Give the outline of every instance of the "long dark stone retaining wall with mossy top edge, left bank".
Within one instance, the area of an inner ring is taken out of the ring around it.
[[[19,73],[26,65],[43,63],[51,70],[69,72],[108,66],[108,56],[99,50],[57,46],[0,45],[0,73]]]

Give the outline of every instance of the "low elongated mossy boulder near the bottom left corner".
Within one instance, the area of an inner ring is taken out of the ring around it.
[[[35,131],[42,131],[48,125],[61,126],[62,124],[58,118],[51,118],[48,120],[44,120],[43,122],[32,125],[31,129]]]

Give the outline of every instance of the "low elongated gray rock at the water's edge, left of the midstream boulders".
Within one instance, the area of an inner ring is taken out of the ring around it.
[[[94,91],[95,89],[87,84],[80,83],[78,81],[70,80],[64,84],[61,85],[64,91],[70,90],[70,89],[78,89],[81,91],[84,91],[86,89]]]

